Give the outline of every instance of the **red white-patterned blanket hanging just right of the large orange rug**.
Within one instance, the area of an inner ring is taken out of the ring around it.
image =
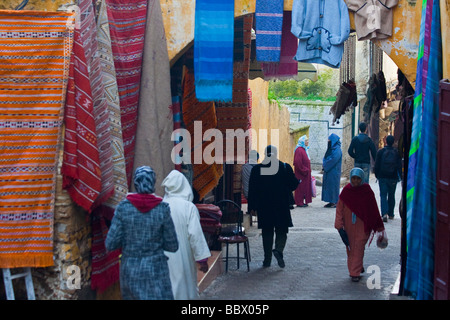
[[[63,188],[72,200],[91,212],[101,192],[102,181],[91,83],[80,33],[79,29],[75,30],[67,85],[61,174]]]

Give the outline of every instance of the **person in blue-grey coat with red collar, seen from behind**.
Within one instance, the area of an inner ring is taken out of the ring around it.
[[[124,300],[173,300],[164,251],[178,249],[169,205],[154,194],[152,168],[136,169],[134,187],[116,208],[106,237],[107,250],[122,248],[120,291]]]

